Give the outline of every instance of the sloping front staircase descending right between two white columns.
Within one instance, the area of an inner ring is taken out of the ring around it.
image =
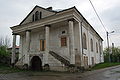
[[[65,66],[69,66],[70,62],[68,60],[66,60],[65,58],[63,58],[62,56],[58,55],[57,53],[50,51],[49,52],[54,58],[56,58],[57,60],[59,60],[61,63],[63,63]]]

